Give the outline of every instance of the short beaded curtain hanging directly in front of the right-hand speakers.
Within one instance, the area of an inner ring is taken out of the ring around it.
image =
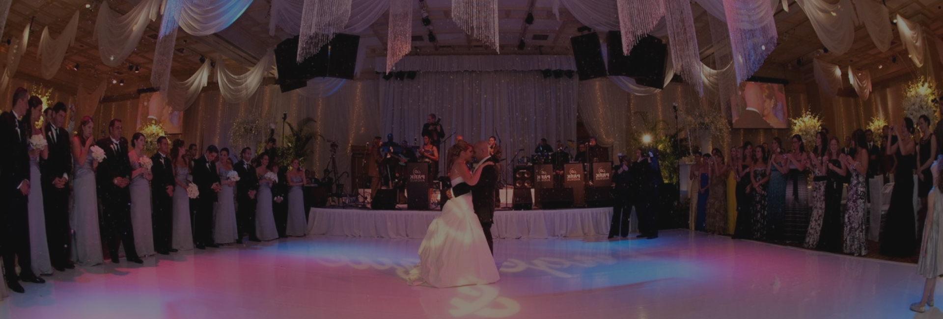
[[[628,56],[638,40],[651,32],[665,16],[665,3],[663,0],[616,0],[616,7],[619,9],[622,53]]]

